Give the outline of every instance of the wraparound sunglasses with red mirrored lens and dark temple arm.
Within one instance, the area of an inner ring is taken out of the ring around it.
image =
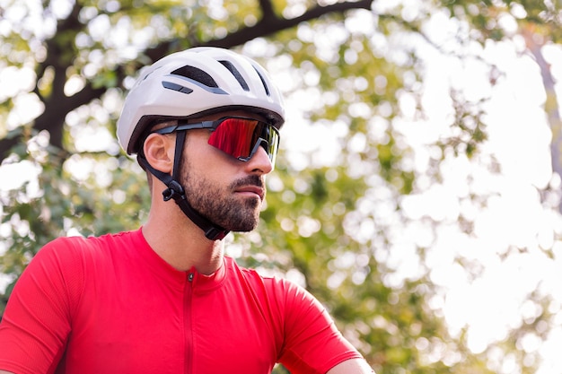
[[[155,130],[154,133],[164,135],[197,128],[212,130],[208,144],[240,161],[250,161],[261,146],[268,153],[271,164],[275,166],[277,149],[279,148],[279,132],[275,126],[258,119],[223,117],[215,121],[202,121],[192,124],[179,122],[176,126],[164,127]]]

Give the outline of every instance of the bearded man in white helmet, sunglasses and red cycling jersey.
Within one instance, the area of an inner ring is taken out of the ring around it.
[[[259,222],[284,117],[268,74],[231,51],[145,70],[118,137],[147,170],[148,219],[40,250],[0,324],[0,373],[372,373],[310,293],[224,257],[221,239]]]

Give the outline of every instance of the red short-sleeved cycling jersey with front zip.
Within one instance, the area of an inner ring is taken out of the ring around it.
[[[18,374],[311,374],[360,357],[303,288],[229,257],[180,272],[141,230],[52,241],[0,323],[0,369]]]

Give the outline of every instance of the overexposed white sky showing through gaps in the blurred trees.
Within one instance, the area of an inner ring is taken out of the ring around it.
[[[435,19],[435,30],[443,29],[442,19]],[[351,22],[350,22],[351,23]],[[372,25],[358,20],[355,25]],[[358,26],[357,26],[358,27]],[[444,36],[443,36],[444,38]],[[329,43],[329,38],[326,38]],[[259,43],[257,41],[256,43]],[[264,46],[261,46],[264,47]],[[518,45],[502,43],[490,45],[479,52],[488,62],[494,62],[505,73],[496,87],[487,82],[484,66],[475,59],[459,60],[440,56],[431,48],[420,49],[426,59],[426,122],[405,117],[399,124],[408,144],[416,150],[415,166],[423,170],[432,151],[429,144],[449,135],[450,126],[446,111],[449,102],[449,86],[461,88],[465,95],[477,100],[481,96],[493,99],[487,106],[487,131],[489,141],[483,147],[483,155],[469,161],[464,157],[450,158],[443,163],[443,183],[432,185],[423,193],[408,196],[404,209],[413,219],[428,215],[442,222],[435,245],[428,252],[427,264],[432,269],[432,281],[443,286],[441,298],[436,298],[435,309],[442,309],[453,334],[464,326],[470,326],[469,343],[475,352],[481,352],[487,344],[505,337],[506,332],[517,326],[521,317],[531,320],[540,310],[526,301],[527,294],[538,285],[544,294],[551,295],[558,304],[552,306],[558,312],[555,326],[550,326],[549,340],[545,344],[529,335],[520,349],[525,352],[540,350],[544,364],[538,374],[562,373],[559,349],[562,346],[562,245],[555,243],[553,232],[560,234],[561,218],[541,207],[536,187],[545,187],[551,178],[549,167],[549,126],[542,105],[544,90],[540,83],[537,65],[528,56],[521,56]],[[252,48],[250,46],[248,48]],[[259,48],[259,46],[254,46]],[[327,47],[329,48],[329,46]],[[552,64],[552,73],[562,81],[562,49],[548,48],[545,55]],[[279,64],[283,65],[282,62]],[[274,79],[283,86],[291,82],[286,71],[271,71]],[[315,79],[313,76],[307,79]],[[29,72],[0,70],[0,98],[9,95],[6,87],[29,85]],[[286,89],[286,87],[285,87]],[[558,84],[558,100],[562,101],[562,88]],[[289,91],[287,89],[287,91]],[[283,148],[289,161],[296,168],[304,168],[304,154],[313,154],[315,162],[329,163],[337,156],[338,136],[345,134],[345,124],[331,126],[324,137],[318,136],[318,125],[306,123],[301,113],[303,105],[310,102],[313,92],[295,93],[287,98],[289,108],[285,126]],[[26,116],[33,108],[31,98],[22,105]],[[411,102],[404,98],[402,108],[408,114]],[[490,174],[487,161],[494,156],[502,173]],[[29,165],[28,165],[29,166]],[[22,172],[26,165],[0,167],[0,193],[2,190],[21,186],[25,180],[33,180],[32,172]],[[471,176],[473,182],[467,184]],[[559,183],[559,182],[558,182]],[[458,204],[459,196],[470,192],[496,194],[487,208],[478,210],[470,204]],[[474,235],[463,234],[455,223],[459,213],[471,215],[475,220]],[[0,213],[2,209],[0,206]],[[0,227],[0,235],[2,227]],[[415,244],[428,240],[426,226],[413,223],[406,228],[412,242],[400,241],[391,261],[405,277],[417,274],[419,264],[415,254],[409,252]],[[527,248],[522,253],[505,257],[508,248]],[[410,248],[410,249],[408,249]],[[541,248],[552,248],[554,259],[548,258]],[[0,248],[2,250],[2,248]],[[400,256],[401,255],[401,256]],[[414,256],[412,256],[414,255]],[[482,266],[481,276],[473,281],[470,274],[454,262],[455,257],[466,258]],[[497,361],[498,373],[516,373],[515,362],[509,358]]]

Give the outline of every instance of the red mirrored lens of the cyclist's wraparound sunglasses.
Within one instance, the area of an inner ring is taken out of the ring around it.
[[[277,154],[279,134],[268,123],[250,118],[229,117],[216,127],[208,143],[242,161],[250,160],[259,146],[262,146],[273,162]]]

